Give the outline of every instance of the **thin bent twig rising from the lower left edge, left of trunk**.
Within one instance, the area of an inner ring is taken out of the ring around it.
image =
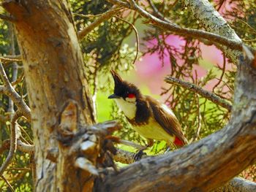
[[[12,158],[17,150],[17,125],[16,125],[16,121],[18,120],[18,118],[22,115],[22,113],[20,112],[20,110],[17,110],[15,112],[15,114],[12,116],[12,120],[11,120],[11,139],[10,139],[10,151],[7,155],[6,160],[4,161],[4,164],[1,165],[0,168],[0,175],[2,175],[4,173],[4,170],[7,169],[7,166],[11,163]]]

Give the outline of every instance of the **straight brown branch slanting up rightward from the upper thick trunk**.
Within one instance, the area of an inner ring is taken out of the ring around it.
[[[110,9],[108,12],[105,12],[102,14],[101,17],[97,18],[91,25],[87,26],[86,28],[83,28],[83,30],[78,31],[78,39],[83,39],[89,32],[94,30],[97,26],[99,26],[100,23],[102,23],[104,20],[108,20],[113,15],[115,15],[120,9],[123,9],[123,7],[113,6],[112,9]]]

